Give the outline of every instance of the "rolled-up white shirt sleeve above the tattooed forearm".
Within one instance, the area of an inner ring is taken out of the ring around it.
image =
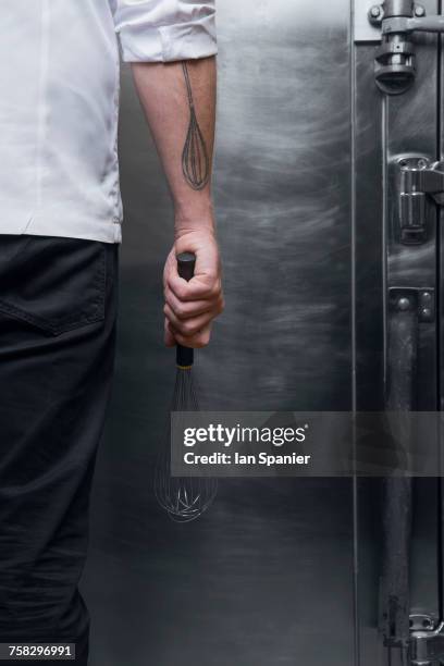
[[[125,62],[171,62],[214,55],[215,0],[115,0]]]

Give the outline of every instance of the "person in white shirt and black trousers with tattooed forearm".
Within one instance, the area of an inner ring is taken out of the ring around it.
[[[122,239],[120,51],[174,203],[165,343],[201,347],[223,308],[211,199],[215,9],[213,0],[3,0],[1,9],[0,643],[75,643],[85,665],[89,619],[77,583]],[[182,251],[197,256],[189,283],[176,270]]]

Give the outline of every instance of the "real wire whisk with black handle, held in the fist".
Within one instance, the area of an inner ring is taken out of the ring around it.
[[[196,256],[183,252],[177,256],[177,272],[184,280],[192,280]],[[172,411],[198,411],[199,404],[193,378],[194,349],[177,345],[177,374],[171,405]],[[160,506],[177,522],[195,520],[207,510],[218,492],[217,479],[178,478],[171,476],[171,423],[168,437],[156,464],[155,494]]]

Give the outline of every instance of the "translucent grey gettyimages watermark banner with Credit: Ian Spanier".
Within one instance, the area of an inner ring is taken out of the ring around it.
[[[440,477],[442,412],[174,411],[174,477]]]

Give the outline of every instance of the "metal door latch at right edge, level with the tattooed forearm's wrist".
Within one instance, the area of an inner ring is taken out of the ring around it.
[[[400,242],[420,245],[428,238],[430,203],[444,205],[444,162],[425,157],[397,159]]]

